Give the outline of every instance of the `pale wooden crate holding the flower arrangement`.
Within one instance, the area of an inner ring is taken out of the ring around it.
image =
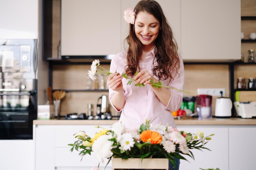
[[[112,159],[112,170],[125,170],[125,169],[157,169],[157,170],[168,170],[169,161],[168,159],[162,158],[113,158]]]

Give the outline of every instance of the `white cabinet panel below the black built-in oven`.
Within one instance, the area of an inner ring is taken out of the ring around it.
[[[33,140],[0,140],[0,170],[34,170]]]

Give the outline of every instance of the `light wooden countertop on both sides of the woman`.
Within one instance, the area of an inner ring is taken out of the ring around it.
[[[112,125],[118,120],[34,120],[35,125]],[[197,118],[175,119],[176,125],[256,125],[256,119],[242,118],[209,118],[198,120]]]

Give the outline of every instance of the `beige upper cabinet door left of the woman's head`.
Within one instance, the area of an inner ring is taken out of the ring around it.
[[[61,55],[119,53],[120,8],[119,0],[62,0]]]

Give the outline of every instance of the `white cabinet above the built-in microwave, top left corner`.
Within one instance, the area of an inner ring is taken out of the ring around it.
[[[2,0],[0,39],[38,39],[38,0]]]

